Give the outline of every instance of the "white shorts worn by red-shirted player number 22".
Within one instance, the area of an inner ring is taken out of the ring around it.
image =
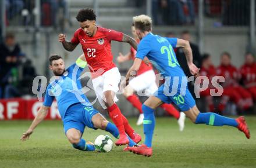
[[[106,71],[101,76],[98,76],[97,78],[92,80],[95,94],[102,108],[106,109],[106,105],[104,103],[105,102],[104,92],[108,90],[111,90],[115,93],[118,92],[119,90],[118,84],[120,80],[121,80],[121,75],[117,67]],[[116,97],[116,95],[114,99],[115,99],[114,100],[115,102],[118,101],[118,98]]]

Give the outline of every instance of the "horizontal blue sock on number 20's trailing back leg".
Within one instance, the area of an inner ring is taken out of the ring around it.
[[[237,127],[238,125],[238,123],[236,122],[236,119],[221,116],[213,112],[205,112],[205,113],[200,112],[197,116],[197,119],[195,120],[195,123],[197,124],[205,123],[207,125],[212,125],[212,126],[229,125],[233,127]]]

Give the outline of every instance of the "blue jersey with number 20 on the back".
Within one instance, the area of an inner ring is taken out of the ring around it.
[[[143,60],[147,56],[163,77],[186,76],[173,50],[176,45],[177,38],[165,38],[150,32],[138,44],[136,58]]]

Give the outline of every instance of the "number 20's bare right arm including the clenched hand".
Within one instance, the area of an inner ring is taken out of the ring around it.
[[[187,65],[189,65],[189,69],[192,75],[197,75],[200,71],[197,66],[193,63],[193,54],[192,49],[190,47],[189,41],[183,40],[183,39],[177,39],[177,48],[183,48],[183,52],[187,59]]]

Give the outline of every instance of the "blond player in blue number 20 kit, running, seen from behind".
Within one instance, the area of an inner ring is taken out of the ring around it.
[[[237,127],[246,134],[247,138],[250,138],[250,132],[243,116],[232,119],[213,112],[201,113],[198,110],[194,98],[187,89],[186,75],[177,62],[175,52],[173,51],[173,48],[183,48],[191,74],[198,74],[199,69],[193,64],[189,42],[182,39],[164,38],[152,34],[151,18],[144,14],[133,17],[133,21],[136,34],[141,41],[138,45],[134,64],[127,72],[126,81],[129,81],[130,72],[136,72],[140,67],[141,60],[147,56],[151,63],[161,72],[162,76],[165,77],[165,83],[159,87],[154,96],[149,97],[143,104],[144,144],[138,147],[129,147],[129,151],[138,155],[152,155],[152,137],[155,127],[154,110],[162,103],[171,102],[175,103],[196,124],[205,123],[212,126],[228,125]],[[121,86],[125,85],[127,83],[126,81],[123,81]]]

